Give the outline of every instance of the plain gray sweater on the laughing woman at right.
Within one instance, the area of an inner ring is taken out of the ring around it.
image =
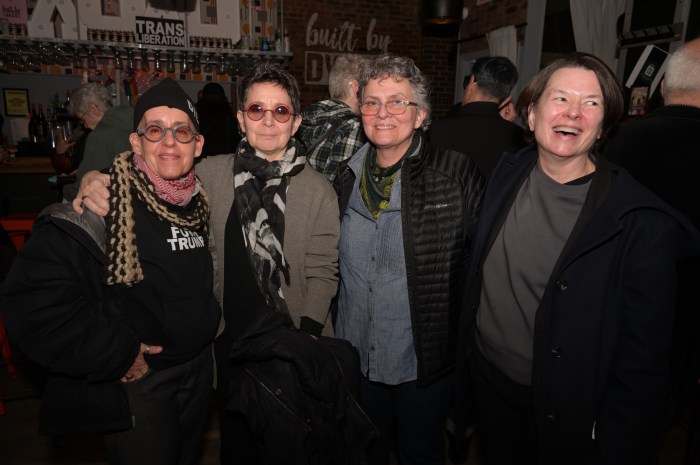
[[[559,184],[535,165],[484,262],[477,343],[516,383],[531,383],[535,315],[590,185]]]

